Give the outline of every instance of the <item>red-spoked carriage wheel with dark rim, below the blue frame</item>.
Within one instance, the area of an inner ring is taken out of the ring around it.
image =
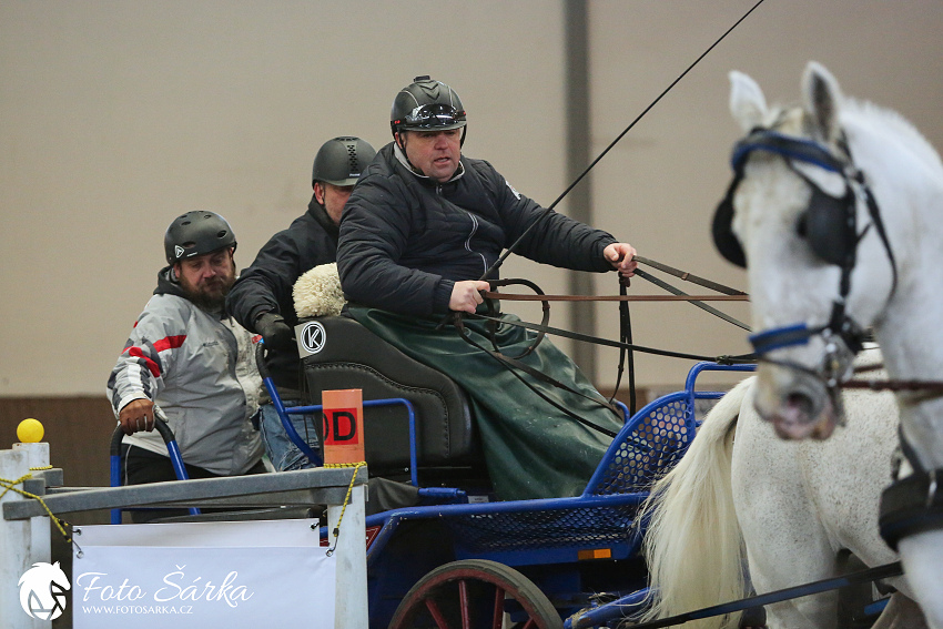
[[[504,564],[465,559],[439,566],[406,592],[389,629],[561,629],[534,582]]]

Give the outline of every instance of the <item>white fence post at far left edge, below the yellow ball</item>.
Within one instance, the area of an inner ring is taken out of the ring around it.
[[[0,450],[0,478],[17,480],[28,474],[29,456],[29,453],[22,449]],[[0,505],[23,499],[21,494],[9,490],[0,498]],[[45,622],[31,618],[23,611],[20,606],[20,588],[17,586],[33,561],[40,560],[33,559],[32,556],[31,531],[30,520],[7,520],[0,516],[0,619],[3,619],[4,627],[9,629],[39,629]]]

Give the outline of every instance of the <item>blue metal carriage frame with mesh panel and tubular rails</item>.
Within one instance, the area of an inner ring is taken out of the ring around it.
[[[488,559],[520,570],[547,594],[564,618],[596,605],[587,597],[582,582],[586,570],[581,568],[599,569],[600,561],[608,562],[629,576],[616,579],[621,582],[607,585],[610,592],[617,589],[612,596],[622,603],[620,613],[633,603],[640,605],[647,571],[643,564],[627,565],[632,560],[641,562],[638,554],[645,527],[636,521],[636,515],[648,497],[649,487],[677,464],[693,439],[696,400],[723,396],[722,392],[696,390],[697,378],[706,371],[752,372],[754,368],[752,364],[701,362],[689,371],[683,390],[655,399],[632,417],[628,417],[628,409],[621,405],[625,424],[579,496],[467,504],[464,491],[432,488],[430,494],[439,493],[439,497],[449,496],[464,504],[397,508],[368,516],[371,627],[386,627],[402,595],[428,570],[460,559]],[[320,413],[322,407],[286,408],[271,378],[264,382],[288,437],[312,460],[320,461],[297,435],[288,415]],[[365,407],[386,405],[404,405],[408,410],[410,481],[418,487],[413,405],[404,398],[364,400]],[[420,495],[423,491],[426,490],[420,489]],[[397,540],[399,531],[410,526],[420,527],[422,534],[407,534]],[[326,539],[326,527],[322,527],[321,535]],[[404,570],[407,561],[413,562],[412,570]],[[598,591],[598,587],[591,589]],[[586,627],[590,618],[594,617],[586,616],[580,626]],[[568,621],[568,629],[569,626]]]

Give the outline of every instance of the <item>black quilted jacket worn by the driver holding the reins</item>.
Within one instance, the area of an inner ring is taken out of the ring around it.
[[[540,220],[515,253],[577,271],[611,271],[616,242],[519,194],[489,164],[462,158],[440,184],[381,149],[344,209],[337,267],[352,302],[413,315],[448,312],[454,282],[478,280],[501,251]],[[489,277],[494,280],[495,277]]]

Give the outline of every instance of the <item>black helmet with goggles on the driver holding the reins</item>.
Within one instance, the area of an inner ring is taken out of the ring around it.
[[[393,100],[389,128],[394,134],[398,131],[445,131],[459,126],[465,126],[465,108],[458,94],[442,81],[416,77]]]

